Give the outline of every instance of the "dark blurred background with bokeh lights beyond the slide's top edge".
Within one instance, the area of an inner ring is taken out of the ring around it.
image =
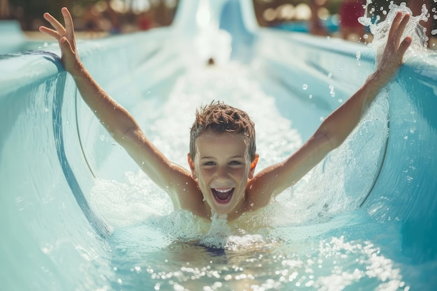
[[[401,3],[405,0],[396,0]],[[28,36],[42,38],[38,27],[45,24],[43,13],[60,18],[60,8],[68,7],[73,14],[75,30],[81,37],[103,37],[113,33],[130,33],[154,27],[168,26],[177,10],[178,0],[0,0],[0,20],[16,20]],[[262,27],[340,37],[367,43],[369,31],[357,22],[364,14],[362,0],[253,0],[255,15]],[[373,0],[369,11],[384,19],[390,1]],[[434,48],[436,0],[409,0],[413,15],[425,5],[429,21],[422,25]],[[0,27],[1,29],[1,27]]]

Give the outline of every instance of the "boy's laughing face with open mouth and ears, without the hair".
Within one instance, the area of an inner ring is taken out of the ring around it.
[[[203,197],[218,214],[234,214],[242,207],[256,165],[256,159],[249,161],[247,144],[243,134],[207,131],[196,140],[195,161],[188,157]]]

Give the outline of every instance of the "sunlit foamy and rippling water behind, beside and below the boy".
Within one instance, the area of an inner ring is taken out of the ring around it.
[[[151,92],[133,114],[170,160],[186,166],[195,109],[212,100],[240,107],[255,121],[262,169],[302,144],[299,130],[262,89],[269,82],[237,63],[195,68],[179,77],[167,99],[157,101]],[[147,114],[148,103],[156,102],[161,114]],[[114,290],[408,290],[401,266],[390,260],[396,224],[383,229],[357,209],[378,171],[387,112],[383,93],[345,144],[302,181],[230,223],[173,211],[142,172],[126,172],[123,181],[98,179],[91,202],[114,228],[112,271],[101,276]]]

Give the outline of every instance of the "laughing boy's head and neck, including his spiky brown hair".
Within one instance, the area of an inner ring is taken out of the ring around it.
[[[228,214],[228,219],[250,209],[254,202],[248,187],[258,163],[255,152],[255,128],[246,112],[223,103],[196,112],[188,164],[203,193],[207,216],[211,208]]]

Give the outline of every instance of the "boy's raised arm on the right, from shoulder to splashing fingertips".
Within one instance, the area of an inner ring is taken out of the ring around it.
[[[409,15],[403,17],[402,13],[394,17],[383,57],[364,85],[332,112],[295,154],[283,163],[267,167],[249,181],[248,188],[255,189],[255,192],[250,193],[250,199],[258,204],[258,207],[267,204],[272,195],[281,193],[299,181],[320,163],[329,151],[339,147],[346,140],[378,92],[392,80],[401,66],[403,54],[411,43],[410,37],[406,37],[401,42],[402,33],[409,19]]]

